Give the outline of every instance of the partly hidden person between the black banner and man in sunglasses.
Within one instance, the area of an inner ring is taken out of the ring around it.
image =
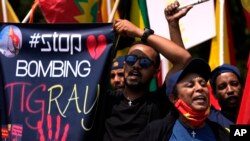
[[[122,90],[124,88],[124,59],[124,56],[118,56],[112,62],[110,85],[113,90]]]

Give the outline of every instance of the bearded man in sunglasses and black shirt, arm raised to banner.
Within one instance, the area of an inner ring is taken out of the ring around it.
[[[173,64],[168,74],[180,70],[191,55],[172,41],[155,35],[153,30],[140,29],[127,20],[116,20],[114,29],[121,36],[139,37],[142,41],[135,42],[125,56],[122,95],[108,99],[112,109],[105,121],[103,140],[133,141],[149,122],[167,113],[166,95],[160,90],[149,91],[151,79],[159,71],[159,52]]]

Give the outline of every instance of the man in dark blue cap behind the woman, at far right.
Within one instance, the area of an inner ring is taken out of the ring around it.
[[[210,84],[221,110],[212,107],[209,119],[229,129],[230,125],[234,125],[237,121],[243,95],[240,70],[233,65],[220,65],[212,71]]]

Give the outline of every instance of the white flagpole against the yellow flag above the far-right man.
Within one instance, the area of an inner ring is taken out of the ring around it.
[[[225,5],[225,0],[219,0],[220,2],[220,25],[219,25],[219,30],[220,30],[220,35],[219,35],[219,40],[220,40],[220,54],[219,54],[219,64],[222,65],[224,63],[224,5]]]

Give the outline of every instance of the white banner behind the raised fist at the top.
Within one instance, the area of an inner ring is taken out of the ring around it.
[[[147,0],[150,27],[157,35],[169,38],[168,23],[164,16],[167,3],[174,0]],[[179,0],[180,5],[185,5],[188,0]],[[198,0],[189,0],[198,1]],[[180,19],[182,39],[186,49],[194,47],[215,36],[214,1],[209,0],[197,5]]]

